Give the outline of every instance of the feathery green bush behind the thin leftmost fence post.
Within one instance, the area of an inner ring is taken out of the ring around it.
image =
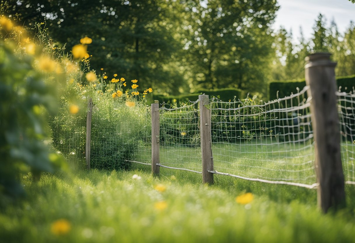
[[[70,97],[79,111],[70,114]],[[128,107],[110,93],[97,91],[91,85],[73,84],[62,97],[60,112],[51,121],[53,144],[66,158],[82,162],[86,146],[86,110],[88,98],[93,99],[91,125],[91,167],[97,169],[129,169],[137,150],[149,143],[151,118],[141,102]]]

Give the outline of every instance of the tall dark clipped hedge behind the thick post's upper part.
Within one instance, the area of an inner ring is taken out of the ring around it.
[[[353,90],[355,86],[355,75],[346,77],[337,77],[337,86],[342,92],[349,92]],[[298,82],[271,82],[269,86],[269,99],[273,100],[278,98],[283,98],[285,96],[291,95],[291,93],[297,93],[297,87],[302,90],[306,86],[306,81],[300,80]],[[277,96],[278,92],[278,96]]]

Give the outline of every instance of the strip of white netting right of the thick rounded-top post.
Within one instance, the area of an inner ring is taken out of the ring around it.
[[[355,184],[355,92],[337,92],[340,148],[346,183]]]

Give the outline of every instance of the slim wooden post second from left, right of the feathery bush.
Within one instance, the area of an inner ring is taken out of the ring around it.
[[[159,175],[159,101],[152,104],[152,173]]]

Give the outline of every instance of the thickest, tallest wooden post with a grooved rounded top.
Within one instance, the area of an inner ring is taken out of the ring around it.
[[[331,54],[315,53],[306,57],[307,93],[311,99],[311,117],[315,139],[315,167],[318,206],[323,212],[330,207],[345,206],[344,174],[340,157],[340,131],[337,90]]]

